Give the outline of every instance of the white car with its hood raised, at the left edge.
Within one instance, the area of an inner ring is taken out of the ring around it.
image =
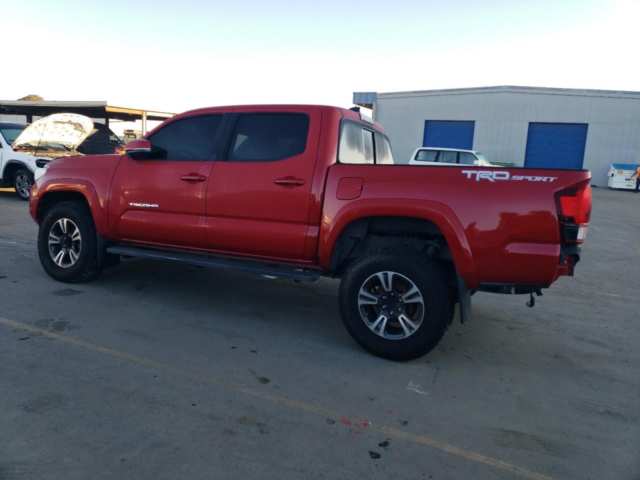
[[[29,200],[33,174],[52,159],[80,155],[76,147],[92,132],[91,118],[54,113],[33,124],[0,122],[0,185]]]

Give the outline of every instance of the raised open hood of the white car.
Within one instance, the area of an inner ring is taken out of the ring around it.
[[[38,143],[59,143],[71,150],[83,143],[91,133],[91,118],[75,113],[54,113],[36,120],[24,129],[12,147],[35,146]]]

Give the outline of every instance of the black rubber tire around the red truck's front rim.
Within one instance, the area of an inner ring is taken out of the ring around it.
[[[49,250],[49,234],[54,224],[62,219],[70,220],[79,230],[81,237],[81,246],[75,263],[65,268],[56,264]],[[60,202],[51,207],[40,222],[38,255],[47,274],[58,282],[86,282],[97,276],[100,273],[97,237],[89,206],[82,202]]]

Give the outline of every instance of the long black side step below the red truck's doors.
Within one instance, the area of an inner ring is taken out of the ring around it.
[[[279,278],[288,278],[289,280],[303,280],[305,282],[315,282],[318,278],[320,278],[320,273],[317,270],[293,265],[265,263],[257,260],[216,257],[214,255],[207,255],[206,253],[186,253],[176,252],[173,250],[156,250],[154,248],[143,248],[139,246],[109,246],[107,248],[107,252],[115,253],[116,255],[126,255],[127,257],[170,260],[172,262],[180,262],[187,265],[240,270],[247,273],[276,276]]]

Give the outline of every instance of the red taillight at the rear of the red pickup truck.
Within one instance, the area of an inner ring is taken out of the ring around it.
[[[582,243],[591,217],[591,187],[564,190],[556,194],[560,230],[564,243]]]

